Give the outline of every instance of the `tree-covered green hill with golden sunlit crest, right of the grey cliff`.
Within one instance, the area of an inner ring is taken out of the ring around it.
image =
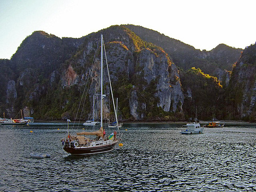
[[[188,117],[198,111],[200,119],[213,117],[223,119],[223,89],[216,77],[204,74],[200,69],[191,68],[181,77],[186,93],[183,110]]]

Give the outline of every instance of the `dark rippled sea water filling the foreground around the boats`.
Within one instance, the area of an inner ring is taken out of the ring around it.
[[[91,156],[62,149],[65,123],[0,130],[0,191],[256,190],[255,124],[200,135],[180,135],[181,124],[124,124],[123,147]],[[33,159],[31,152],[51,158]]]

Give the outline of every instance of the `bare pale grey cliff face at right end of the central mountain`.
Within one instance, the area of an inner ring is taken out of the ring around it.
[[[138,57],[139,66],[142,68],[137,73],[143,73],[147,84],[156,80],[155,97],[157,103],[165,112],[176,112],[178,105],[182,105],[184,96],[181,89],[177,67],[164,54],[156,54],[150,50],[141,51]]]

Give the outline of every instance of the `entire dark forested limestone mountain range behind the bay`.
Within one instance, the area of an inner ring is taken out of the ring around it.
[[[124,119],[184,120],[193,116],[195,106],[200,106],[198,109],[205,114],[211,104],[215,107],[211,112],[221,114],[220,119],[256,117],[255,45],[246,48],[242,55],[242,49],[224,44],[211,51],[200,51],[157,31],[133,25],[111,26],[81,38],[33,32],[10,60],[0,59],[0,112],[13,117],[23,109],[35,119],[74,119],[89,77],[93,77],[94,86],[99,86],[99,66],[92,67],[92,63],[101,34]],[[210,78],[212,81],[220,80],[220,94],[212,94],[210,101],[197,100],[203,90],[210,92],[215,88],[209,86],[211,80],[196,77],[193,84],[197,89],[187,87],[187,72],[192,68],[216,77]],[[94,91],[88,90],[88,107]],[[206,113],[204,119],[214,114]]]

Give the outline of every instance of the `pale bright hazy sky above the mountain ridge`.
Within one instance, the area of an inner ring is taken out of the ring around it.
[[[133,24],[196,49],[219,44],[244,49],[256,41],[255,0],[0,0],[0,58],[42,30],[82,37],[112,25]]]

